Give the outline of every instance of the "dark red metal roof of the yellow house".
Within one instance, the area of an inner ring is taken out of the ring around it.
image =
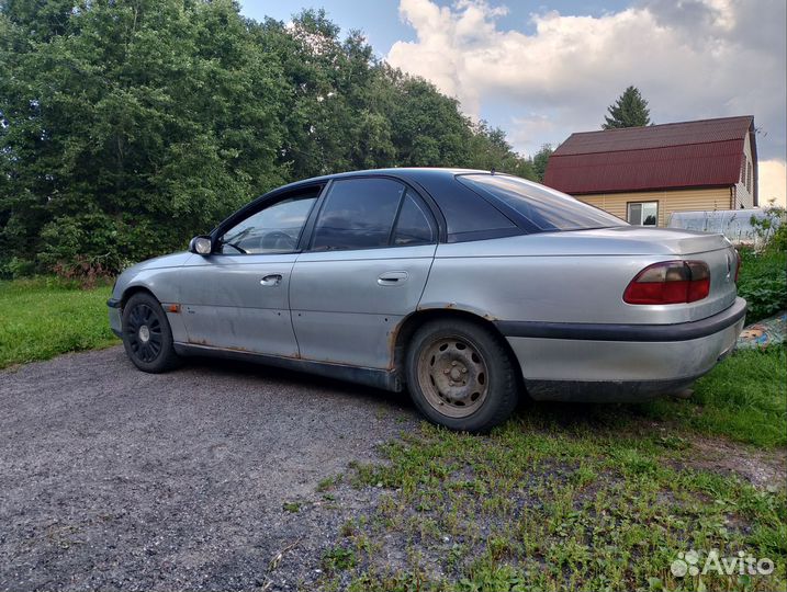
[[[746,134],[756,163],[751,116],[572,134],[543,182],[572,195],[733,185]]]

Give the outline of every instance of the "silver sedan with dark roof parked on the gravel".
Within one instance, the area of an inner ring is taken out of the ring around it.
[[[642,228],[516,177],[390,169],[292,183],[125,270],[132,362],[258,361],[391,390],[483,431],[520,394],[639,401],[731,350],[746,305],[720,235]]]

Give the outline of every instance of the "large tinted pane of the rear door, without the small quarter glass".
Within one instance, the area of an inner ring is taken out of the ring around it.
[[[405,187],[390,179],[335,181],[314,228],[317,251],[389,244]]]

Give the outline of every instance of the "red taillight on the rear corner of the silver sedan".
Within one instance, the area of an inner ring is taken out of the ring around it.
[[[710,293],[710,270],[702,261],[664,261],[637,274],[623,293],[628,304],[681,304]]]

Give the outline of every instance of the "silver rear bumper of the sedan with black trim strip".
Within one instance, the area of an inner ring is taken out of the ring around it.
[[[746,303],[678,325],[497,322],[539,400],[638,401],[681,390],[729,353]]]

